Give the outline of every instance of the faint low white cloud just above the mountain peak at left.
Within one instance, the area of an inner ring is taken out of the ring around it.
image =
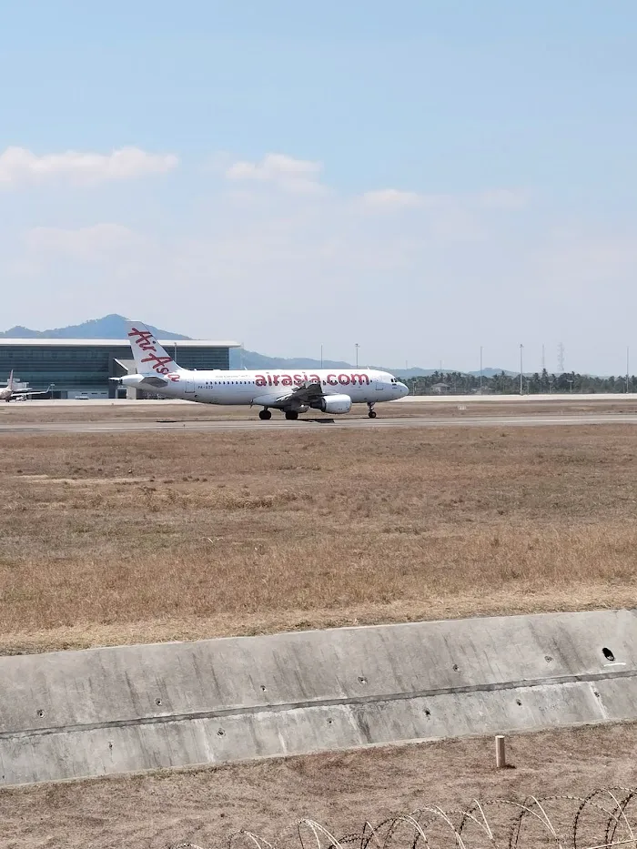
[[[34,227],[25,242],[31,256],[66,258],[80,262],[104,262],[135,251],[144,239],[119,224],[92,227]]]

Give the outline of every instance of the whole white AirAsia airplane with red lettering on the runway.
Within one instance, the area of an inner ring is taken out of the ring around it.
[[[319,409],[332,415],[349,413],[352,404],[367,404],[370,419],[376,404],[404,398],[409,389],[388,371],[375,369],[318,369],[296,374],[278,371],[197,371],[181,369],[159,345],[146,325],[126,322],[137,373],[111,378],[120,386],[146,389],[165,398],[200,404],[261,407],[258,418],[272,418],[280,409],[286,419]]]

